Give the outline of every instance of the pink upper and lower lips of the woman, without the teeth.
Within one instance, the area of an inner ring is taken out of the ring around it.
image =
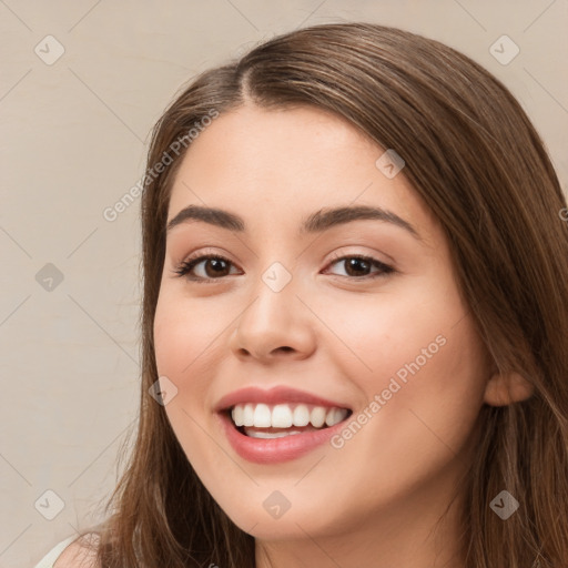
[[[216,405],[216,416],[221,422],[221,427],[225,433],[229,443],[233,449],[247,462],[256,464],[278,464],[297,459],[301,456],[312,452],[316,447],[325,444],[329,438],[337,434],[344,427],[344,423],[335,426],[322,428],[318,430],[308,430],[302,434],[272,439],[252,438],[242,434],[229,416],[229,410],[236,404],[244,403],[264,403],[294,404],[303,403],[315,406],[346,408],[344,404],[327,400],[302,390],[288,387],[275,387],[270,390],[263,390],[256,387],[247,387],[224,396]]]

